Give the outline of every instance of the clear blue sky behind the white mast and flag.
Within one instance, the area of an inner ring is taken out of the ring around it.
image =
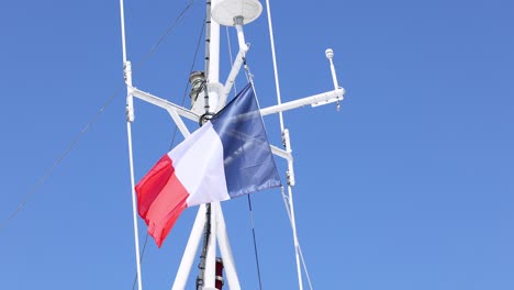
[[[134,86],[176,103],[191,67],[203,69],[203,46],[193,56],[204,2],[148,52],[188,3],[125,3]],[[284,114],[313,287],[514,289],[514,2],[272,1],[271,11],[282,100],[333,89],[327,47],[347,92],[339,112],[328,104]],[[4,1],[0,15],[0,222],[30,197],[0,228],[0,288],[132,289],[119,1]],[[260,105],[272,105],[266,12],[245,33]],[[164,110],[142,101],[135,110],[138,180],[182,138]],[[280,145],[278,118],[265,123]],[[297,289],[280,190],[252,202],[262,288]],[[242,288],[258,289],[247,198],[222,205]],[[160,249],[148,241],[145,289],[170,289],[195,213],[185,211]]]

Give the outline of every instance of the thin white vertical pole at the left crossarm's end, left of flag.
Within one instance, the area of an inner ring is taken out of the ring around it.
[[[126,45],[125,45],[125,16],[123,0],[120,0],[120,16],[121,16],[121,30],[122,30],[122,49],[123,49],[123,66],[125,74],[126,83],[126,135],[128,140],[128,161],[131,168],[131,190],[132,190],[132,213],[134,222],[134,243],[136,254],[136,267],[137,267],[137,289],[143,289],[143,282],[141,277],[141,257],[139,257],[139,234],[137,231],[137,209],[136,209],[136,194],[135,194],[135,182],[134,182],[134,161],[132,154],[132,127],[131,123],[134,121],[134,104],[132,97],[132,68],[131,63],[126,60]]]

